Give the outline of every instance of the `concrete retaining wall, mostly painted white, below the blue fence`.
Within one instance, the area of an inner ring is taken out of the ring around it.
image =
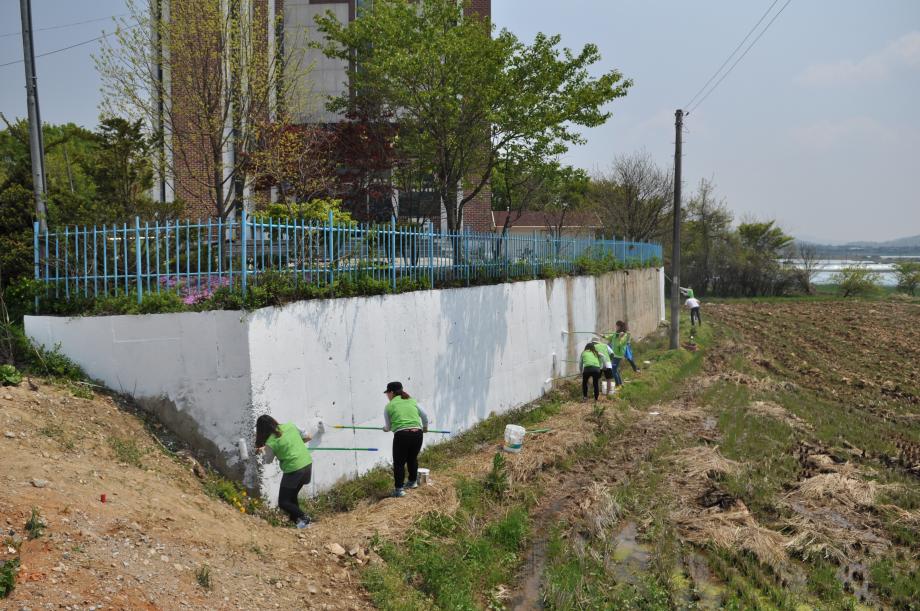
[[[26,317],[26,332],[107,386],[133,395],[227,475],[274,500],[277,463],[242,460],[258,415],[310,429],[311,493],[387,462],[383,390],[400,380],[433,428],[465,430],[543,394],[576,371],[588,336],[626,319],[636,336],[658,326],[662,272],[633,270],[401,295],[304,301],[254,312],[88,318]],[[554,358],[555,356],[555,358]],[[319,423],[324,424],[320,431]],[[429,435],[426,443],[440,436]]]

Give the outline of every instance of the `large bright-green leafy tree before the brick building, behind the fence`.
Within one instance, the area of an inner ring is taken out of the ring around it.
[[[397,146],[431,174],[448,229],[489,183],[500,154],[512,147],[552,154],[582,142],[576,126],[607,120],[601,110],[626,94],[611,71],[593,77],[595,45],[573,54],[558,36],[525,45],[456,0],[376,0],[342,24],[317,19],[328,57],[349,62],[350,91],[330,110],[379,109],[396,117]]]

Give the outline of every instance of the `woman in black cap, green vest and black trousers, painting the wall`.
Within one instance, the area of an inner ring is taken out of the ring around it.
[[[393,431],[393,496],[400,497],[406,495],[405,488],[418,488],[418,453],[428,432],[428,414],[403,389],[402,382],[390,382],[383,393],[389,400],[383,409],[383,430]]]

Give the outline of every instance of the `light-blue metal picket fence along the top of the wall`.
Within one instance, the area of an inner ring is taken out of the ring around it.
[[[582,257],[624,265],[661,259],[645,242],[539,235],[441,232],[383,225],[301,222],[247,216],[74,226],[34,233],[35,279],[56,298],[173,291],[188,303],[221,286],[247,285],[268,271],[323,286],[343,276],[445,282],[571,272]]]

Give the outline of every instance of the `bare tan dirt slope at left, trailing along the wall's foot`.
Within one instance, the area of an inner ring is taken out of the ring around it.
[[[509,455],[512,477],[530,477],[582,443],[589,425],[578,415],[586,410],[569,404],[546,421],[556,430],[529,440],[530,452]],[[21,541],[18,583],[2,601],[11,609],[370,608],[357,571],[379,561],[368,540],[398,539],[418,515],[455,506],[454,479],[484,474],[497,448],[483,445],[402,499],[365,503],[297,531],[205,494],[190,465],[163,452],[108,396],[78,399],[41,383],[0,388],[0,434],[8,543],[0,561]],[[136,443],[140,468],[118,463],[113,437]],[[46,524],[34,540],[24,530],[32,508]],[[330,552],[332,544],[346,553]],[[209,589],[198,583],[202,567]]]

